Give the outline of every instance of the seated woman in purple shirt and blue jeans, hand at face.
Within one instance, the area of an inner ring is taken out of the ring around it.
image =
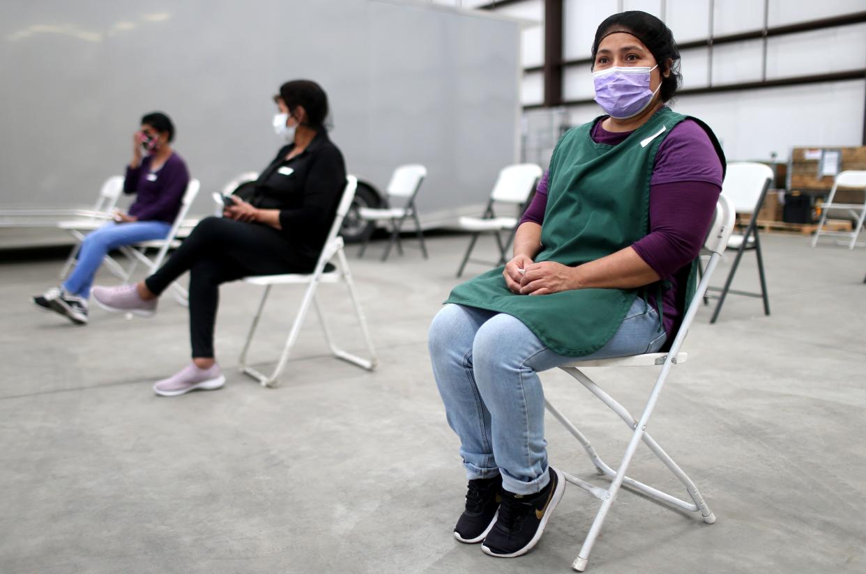
[[[123,192],[136,194],[135,202],[128,213],[116,211],[113,222],[84,238],[72,274],[60,287],[34,297],[38,308],[86,325],[90,287],[108,251],[168,235],[190,181],[184,160],[171,149],[172,139],[174,124],[165,113],[148,113],[141,119],[123,182]]]

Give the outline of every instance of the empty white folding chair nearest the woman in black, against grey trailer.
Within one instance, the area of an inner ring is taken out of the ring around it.
[[[391,239],[385,247],[385,253],[382,254],[382,261],[388,259],[388,254],[391,253],[391,247],[397,243],[397,253],[403,255],[403,245],[400,242],[400,228],[407,218],[412,218],[415,222],[415,231],[418,236],[418,242],[421,244],[421,253],[424,259],[427,259],[427,248],[424,246],[424,235],[421,230],[421,221],[418,219],[418,210],[415,206],[415,198],[418,195],[418,190],[421,189],[421,184],[424,177],[427,176],[427,168],[423,165],[411,164],[401,165],[391,176],[391,181],[388,182],[385,197],[385,206],[382,208],[362,207],[358,210],[358,216],[365,221],[382,221],[388,220],[391,222]],[[391,207],[391,200],[399,197],[404,200],[403,207]],[[359,257],[364,256],[367,248],[367,243],[370,242],[368,235],[358,253]]]

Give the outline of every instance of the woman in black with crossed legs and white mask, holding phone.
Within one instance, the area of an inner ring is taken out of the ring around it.
[[[309,273],[315,267],[346,186],[346,164],[327,137],[327,96],[313,81],[289,81],[275,96],[274,126],[290,139],[223,217],[204,218],[155,274],[135,285],[94,287],[109,311],[151,316],[171,283],[190,272],[192,362],[153,385],[158,395],[219,389],[214,359],[218,287],[248,275]]]

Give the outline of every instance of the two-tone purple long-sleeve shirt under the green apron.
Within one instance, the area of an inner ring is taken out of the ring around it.
[[[598,121],[592,139],[598,144],[617,145],[631,132],[608,132]],[[547,172],[538,184],[520,223],[543,224],[547,205]],[[695,121],[677,124],[659,145],[650,179],[650,233],[632,244],[671,287],[662,293],[664,330],[668,336],[680,322],[688,263],[701,250],[721,193],[721,162],[707,132]],[[656,301],[650,297],[656,307]]]

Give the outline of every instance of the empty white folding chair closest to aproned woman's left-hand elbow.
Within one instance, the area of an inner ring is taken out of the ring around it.
[[[500,253],[497,265],[502,265],[507,261],[507,250],[514,240],[514,228],[517,227],[518,218],[497,216],[494,207],[497,204],[505,203],[520,211],[524,207],[524,203],[527,203],[527,197],[532,193],[535,182],[539,180],[542,173],[543,171],[536,164],[514,164],[503,168],[499,172],[499,177],[496,178],[496,184],[490,193],[490,200],[487,209],[484,210],[484,215],[481,217],[461,217],[457,220],[461,229],[472,232],[469,248],[466,249],[466,255],[463,255],[463,261],[457,268],[457,277],[463,274],[463,268],[470,261],[469,255],[472,255],[472,249],[475,248],[475,242],[478,241],[478,236],[482,233],[492,232],[496,238],[496,246]],[[509,232],[504,243],[500,235],[501,231]],[[478,262],[489,265],[488,261]]]

